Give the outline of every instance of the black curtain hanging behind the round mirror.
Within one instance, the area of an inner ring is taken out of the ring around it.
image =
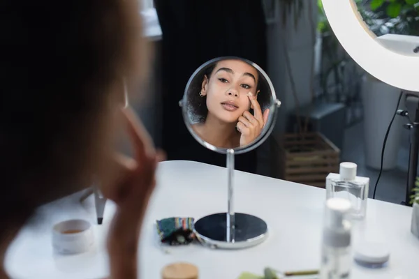
[[[163,31],[162,148],[168,160],[226,165],[189,134],[178,105],[186,83],[201,64],[240,56],[266,68],[265,15],[260,0],[155,0]],[[256,150],[236,156],[235,168],[256,173]]]

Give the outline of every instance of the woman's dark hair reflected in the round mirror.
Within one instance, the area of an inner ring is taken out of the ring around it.
[[[202,84],[205,76],[210,80],[212,72],[216,67],[216,62],[210,63],[207,67],[203,68],[200,73],[198,73],[193,80],[187,91],[188,96],[188,107],[191,112],[192,121],[195,123],[203,123],[207,119],[208,109],[207,109],[207,96],[200,96],[200,91],[202,89]],[[258,71],[258,84],[256,91],[260,90],[258,94],[258,103],[262,110],[265,110],[269,107],[272,99],[272,93],[270,91],[269,84],[265,77]],[[251,110],[253,114],[253,110]]]

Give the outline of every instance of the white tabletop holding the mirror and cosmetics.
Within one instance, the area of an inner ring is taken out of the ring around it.
[[[262,273],[265,266],[280,270],[318,268],[325,191],[244,172],[235,172],[235,209],[263,218],[270,226],[267,241],[247,250],[210,250],[199,245],[163,250],[155,234],[155,220],[171,216],[200,218],[226,211],[226,177],[226,169],[201,163],[168,161],[159,165],[158,186],[140,242],[140,278],[160,278],[164,265],[178,261],[196,264],[200,279],[235,279],[242,271]],[[103,225],[94,225],[95,251],[71,257],[52,255],[52,223],[67,218],[96,222],[93,199],[81,206],[78,196],[45,206],[45,217],[38,220],[39,225],[22,230],[6,258],[10,276],[97,279],[108,274],[104,239],[115,212],[112,203],[107,205]],[[410,223],[411,208],[369,199],[364,238],[386,243],[391,259],[384,269],[364,269],[354,264],[352,278],[418,278],[419,240],[410,233]]]

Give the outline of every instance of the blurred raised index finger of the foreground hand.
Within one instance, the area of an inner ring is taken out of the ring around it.
[[[153,141],[131,108],[127,107],[122,110],[122,115],[128,126],[128,135],[133,144],[135,159],[139,160],[145,156],[155,156],[156,151],[154,150]]]

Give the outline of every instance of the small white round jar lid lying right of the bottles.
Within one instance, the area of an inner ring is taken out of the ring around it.
[[[381,265],[390,259],[390,251],[383,243],[364,242],[355,248],[354,259],[365,265]]]

